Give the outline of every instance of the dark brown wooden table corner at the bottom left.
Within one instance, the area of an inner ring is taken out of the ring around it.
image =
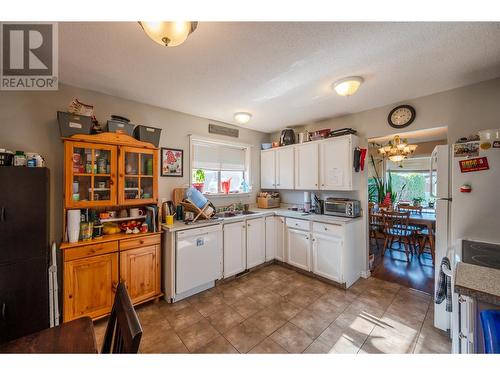
[[[94,324],[82,317],[0,345],[0,353],[97,354]]]

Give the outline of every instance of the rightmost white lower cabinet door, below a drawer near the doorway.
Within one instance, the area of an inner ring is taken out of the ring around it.
[[[313,272],[327,279],[343,283],[342,238],[313,234]]]

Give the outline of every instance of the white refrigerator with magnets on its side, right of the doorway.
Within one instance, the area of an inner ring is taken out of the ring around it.
[[[435,286],[444,256],[452,262],[461,257],[460,240],[500,243],[500,148],[479,150],[477,156],[455,157],[454,145],[437,146],[431,159],[431,178],[436,178]],[[463,172],[460,161],[486,157],[489,169]],[[470,192],[461,192],[463,185]],[[451,329],[452,314],[445,302],[434,310],[434,325]],[[453,334],[453,329],[452,329]]]

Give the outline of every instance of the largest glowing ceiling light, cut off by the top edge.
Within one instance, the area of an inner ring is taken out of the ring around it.
[[[165,47],[175,47],[186,41],[189,34],[196,30],[198,22],[144,22],[142,29],[156,43]]]

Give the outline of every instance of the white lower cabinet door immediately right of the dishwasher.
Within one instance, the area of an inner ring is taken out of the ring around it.
[[[247,264],[246,224],[224,225],[224,278],[245,271]]]

